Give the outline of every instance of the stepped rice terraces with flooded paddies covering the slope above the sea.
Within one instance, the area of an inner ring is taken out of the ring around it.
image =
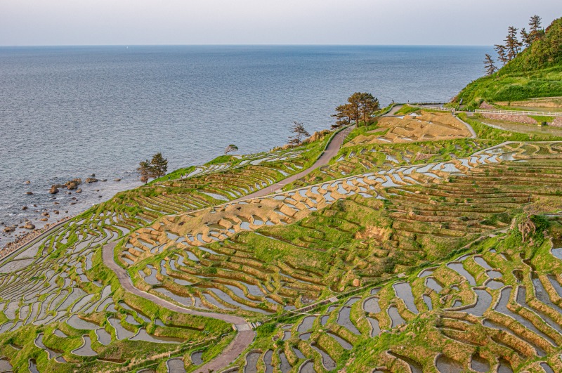
[[[240,198],[325,143],[192,167],[11,254],[0,368],[207,372],[249,333],[219,371],[562,370],[562,143],[353,145]]]

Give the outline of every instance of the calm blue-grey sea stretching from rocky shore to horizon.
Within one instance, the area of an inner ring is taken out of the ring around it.
[[[311,132],[329,128],[334,107],[354,91],[372,92],[385,105],[450,100],[483,74],[483,55],[489,51],[448,46],[0,48],[0,222],[35,222],[44,209],[84,210],[136,185],[136,164],[155,152],[164,153],[172,170],[207,162],[229,143],[244,153],[282,145],[294,120]],[[59,193],[60,204],[53,204],[47,192],[51,184],[92,173],[109,181],[85,186],[81,195]],[[22,206],[30,208],[22,211]],[[0,245],[6,240],[0,236]]]

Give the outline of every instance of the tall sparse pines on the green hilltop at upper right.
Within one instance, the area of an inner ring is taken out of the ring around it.
[[[517,35],[518,29],[514,26],[509,26],[507,28],[507,37],[504,39],[504,44],[496,44],[494,46],[494,49],[497,52],[497,60],[505,65],[516,58],[523,48],[527,48],[533,41],[542,38],[544,30],[541,27],[541,23],[541,18],[538,15],[533,15],[529,20],[529,31],[525,30],[525,27],[523,27],[519,32],[521,40]],[[497,71],[497,67],[494,65],[494,60],[488,54],[486,54],[484,64],[488,75]],[[492,72],[490,73],[490,71]]]

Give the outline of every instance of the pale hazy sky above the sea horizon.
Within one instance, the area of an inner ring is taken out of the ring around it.
[[[560,0],[0,0],[0,45],[492,45]]]

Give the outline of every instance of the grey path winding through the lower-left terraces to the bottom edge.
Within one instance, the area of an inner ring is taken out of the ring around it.
[[[112,270],[115,275],[117,275],[119,284],[121,284],[123,289],[125,289],[127,292],[135,294],[136,296],[142,296],[144,299],[148,299],[149,301],[156,303],[158,306],[168,308],[169,310],[173,310],[174,312],[203,316],[205,318],[214,318],[230,322],[230,324],[235,325],[237,334],[233,341],[230,342],[230,344],[224,349],[224,351],[222,351],[221,354],[218,355],[214,360],[211,360],[210,362],[207,362],[207,364],[202,365],[202,367],[198,368],[195,372],[216,372],[219,369],[226,367],[231,362],[236,360],[238,356],[240,356],[240,354],[244,352],[244,350],[250,345],[250,343],[254,341],[255,333],[249,326],[248,322],[244,320],[244,318],[240,318],[239,316],[235,315],[223,315],[222,313],[190,310],[188,308],[176,306],[174,303],[170,303],[169,301],[161,299],[158,296],[143,292],[141,289],[137,289],[136,287],[134,287],[133,283],[131,282],[131,277],[129,277],[129,273],[127,273],[126,270],[117,265],[117,263],[115,263],[115,260],[113,259],[113,250],[115,249],[116,245],[117,242],[105,244],[102,249],[102,259],[105,266],[107,266],[107,268],[110,268],[110,270]]]

